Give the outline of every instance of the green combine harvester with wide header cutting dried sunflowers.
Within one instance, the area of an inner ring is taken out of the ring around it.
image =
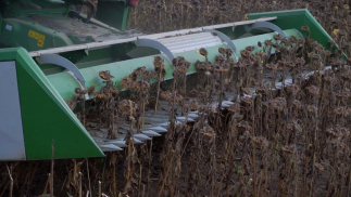
[[[54,159],[104,157],[126,147],[127,124],[116,126],[122,133],[109,140],[106,132],[88,131],[66,103],[76,88],[95,86],[100,91],[105,86],[100,71],[109,70],[121,88],[121,80],[136,68],[153,69],[158,55],[170,80],[172,61],[178,56],[191,63],[188,75],[196,73],[195,63],[205,60],[201,48],[213,63],[220,48],[231,50],[237,61],[240,50],[275,34],[303,38],[302,26],[325,48],[333,40],[308,10],[255,13],[242,22],[143,35],[126,29],[129,8],[136,3],[99,0],[97,9],[79,0],[0,0],[0,160],[51,159],[52,141]],[[83,5],[87,15],[80,12]],[[85,96],[87,102],[93,98]],[[231,104],[225,101],[222,106]],[[189,114],[188,121],[197,116]],[[136,133],[134,142],[164,134],[167,117],[166,110],[146,111],[145,121],[151,124]]]

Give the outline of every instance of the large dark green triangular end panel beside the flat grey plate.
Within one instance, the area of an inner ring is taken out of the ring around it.
[[[50,159],[52,140],[55,159],[104,156],[23,48],[0,50],[0,54],[9,54],[5,57],[1,55],[1,61],[16,60],[28,160]]]

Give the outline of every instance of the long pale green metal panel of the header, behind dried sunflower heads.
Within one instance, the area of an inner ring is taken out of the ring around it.
[[[296,29],[285,30],[285,32],[287,36],[293,35],[298,38],[301,38],[300,34]],[[274,34],[271,32],[271,34],[254,36],[250,38],[234,40],[233,43],[237,47],[237,55],[240,56],[240,50],[245,49],[248,45],[256,45],[259,41],[265,41],[267,39],[272,39],[273,35]],[[220,54],[218,53],[220,47],[227,48],[224,44],[206,48],[209,52],[209,56],[208,56],[209,61],[214,62],[214,57]],[[191,63],[188,74],[196,71],[195,63],[198,60],[204,61],[204,56],[201,56],[199,52],[196,50],[177,53],[175,54],[175,56],[183,56],[188,62]],[[115,63],[110,63],[104,65],[87,67],[87,68],[80,69],[80,71],[86,79],[86,86],[87,87],[96,86],[96,90],[99,91],[104,86],[104,83],[102,83],[102,80],[98,75],[99,71],[110,70],[110,73],[114,76],[113,80],[116,82],[117,88],[121,88],[120,82],[124,77],[128,76],[134,69],[141,66],[146,66],[147,69],[153,69],[152,63],[153,63],[153,56],[146,56],[146,57],[134,58],[134,60],[128,60],[123,62],[115,62]],[[164,60],[164,65],[167,71],[167,75],[165,78],[171,79],[172,73],[173,73],[173,65],[166,60]],[[60,95],[65,101],[70,101],[72,98],[74,94],[74,89],[78,87],[77,81],[75,81],[75,79],[66,73],[48,75],[47,78],[50,80],[50,82],[53,84],[53,87],[58,90]]]

